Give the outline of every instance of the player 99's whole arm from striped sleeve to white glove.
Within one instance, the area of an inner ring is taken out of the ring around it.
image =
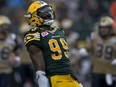
[[[38,31],[29,31],[25,35],[25,45],[36,71],[36,81],[39,87],[48,87],[45,73],[45,63],[42,54],[42,38]]]

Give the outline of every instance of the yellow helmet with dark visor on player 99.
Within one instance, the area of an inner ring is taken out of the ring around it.
[[[32,26],[51,25],[54,22],[55,14],[50,5],[43,1],[33,2],[25,17]]]

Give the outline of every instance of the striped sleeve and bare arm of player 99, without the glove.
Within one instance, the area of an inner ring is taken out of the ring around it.
[[[42,37],[37,28],[31,29],[25,34],[24,42],[31,57],[36,71],[45,70],[44,58],[42,54]]]

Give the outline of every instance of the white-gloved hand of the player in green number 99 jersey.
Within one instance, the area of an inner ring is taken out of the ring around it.
[[[46,77],[44,71],[36,72],[36,80],[39,87],[49,87],[48,78]]]

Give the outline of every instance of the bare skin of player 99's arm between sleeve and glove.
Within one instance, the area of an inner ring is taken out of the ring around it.
[[[42,50],[33,45],[29,46],[27,50],[29,52],[35,70],[45,71],[45,63],[44,63]]]

